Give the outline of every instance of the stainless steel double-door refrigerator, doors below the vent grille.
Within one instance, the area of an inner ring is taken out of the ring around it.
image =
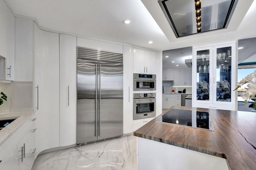
[[[123,134],[123,64],[77,59],[77,144]]]

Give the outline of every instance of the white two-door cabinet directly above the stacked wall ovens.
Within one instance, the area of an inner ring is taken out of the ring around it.
[[[156,74],[156,52],[134,48],[134,73]]]

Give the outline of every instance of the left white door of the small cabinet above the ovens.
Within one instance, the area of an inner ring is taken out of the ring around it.
[[[134,73],[146,73],[145,50],[143,50],[143,49],[134,48],[133,72]]]

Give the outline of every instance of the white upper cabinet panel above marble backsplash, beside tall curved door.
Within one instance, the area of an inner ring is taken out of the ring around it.
[[[33,81],[34,22],[15,18],[15,81]]]

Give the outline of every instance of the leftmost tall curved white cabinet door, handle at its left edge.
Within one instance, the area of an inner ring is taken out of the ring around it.
[[[36,88],[38,87],[38,88]],[[34,28],[36,153],[59,146],[59,34]]]

